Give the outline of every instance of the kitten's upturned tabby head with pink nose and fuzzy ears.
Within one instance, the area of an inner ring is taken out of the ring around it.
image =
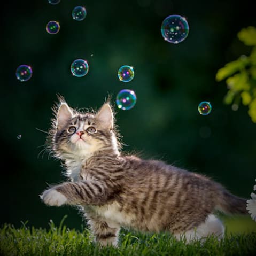
[[[49,133],[51,149],[60,159],[83,158],[96,151],[118,152],[117,131],[109,102],[98,112],[87,113],[73,110],[63,98],[53,110],[55,118]]]

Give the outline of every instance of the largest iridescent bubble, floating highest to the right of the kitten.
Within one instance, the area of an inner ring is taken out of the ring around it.
[[[188,36],[189,24],[180,15],[170,15],[162,22],[161,33],[167,42],[177,44]]]

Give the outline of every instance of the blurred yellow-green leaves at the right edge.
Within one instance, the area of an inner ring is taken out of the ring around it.
[[[233,104],[232,109],[237,110],[242,99],[243,105],[249,107],[248,114],[252,121],[256,123],[256,28],[243,28],[237,36],[245,45],[252,46],[251,53],[220,68],[216,80],[226,79],[228,92],[224,103]]]

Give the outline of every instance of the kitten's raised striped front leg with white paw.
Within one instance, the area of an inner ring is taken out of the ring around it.
[[[97,181],[65,182],[45,190],[40,196],[45,204],[61,206],[64,204],[102,204],[107,199],[106,185]]]

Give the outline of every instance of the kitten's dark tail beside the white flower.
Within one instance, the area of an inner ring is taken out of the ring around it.
[[[227,190],[221,191],[216,209],[228,214],[248,214],[246,199],[232,195]]]

